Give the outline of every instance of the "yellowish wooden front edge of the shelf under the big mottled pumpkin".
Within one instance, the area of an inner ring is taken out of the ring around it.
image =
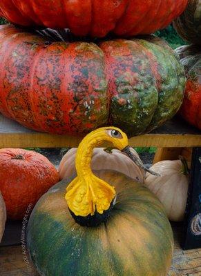
[[[0,133],[0,148],[68,148],[77,147],[82,137],[49,135],[46,133],[5,134]],[[201,136],[194,135],[142,135],[129,139],[133,147],[198,147]],[[103,144],[102,146],[111,146]]]

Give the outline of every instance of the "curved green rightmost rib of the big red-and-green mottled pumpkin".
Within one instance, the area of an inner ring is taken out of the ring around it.
[[[144,45],[157,58],[160,86],[158,87],[158,104],[151,124],[146,132],[153,130],[171,119],[178,112],[184,96],[185,76],[184,68],[171,48],[164,48],[157,41],[141,40]]]

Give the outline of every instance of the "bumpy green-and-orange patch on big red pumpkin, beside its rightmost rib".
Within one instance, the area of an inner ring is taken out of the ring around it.
[[[146,53],[133,41],[127,41],[126,46],[131,54],[117,59],[117,95],[111,99],[111,116],[115,126],[133,136],[144,132],[150,124],[158,95],[156,79]]]

